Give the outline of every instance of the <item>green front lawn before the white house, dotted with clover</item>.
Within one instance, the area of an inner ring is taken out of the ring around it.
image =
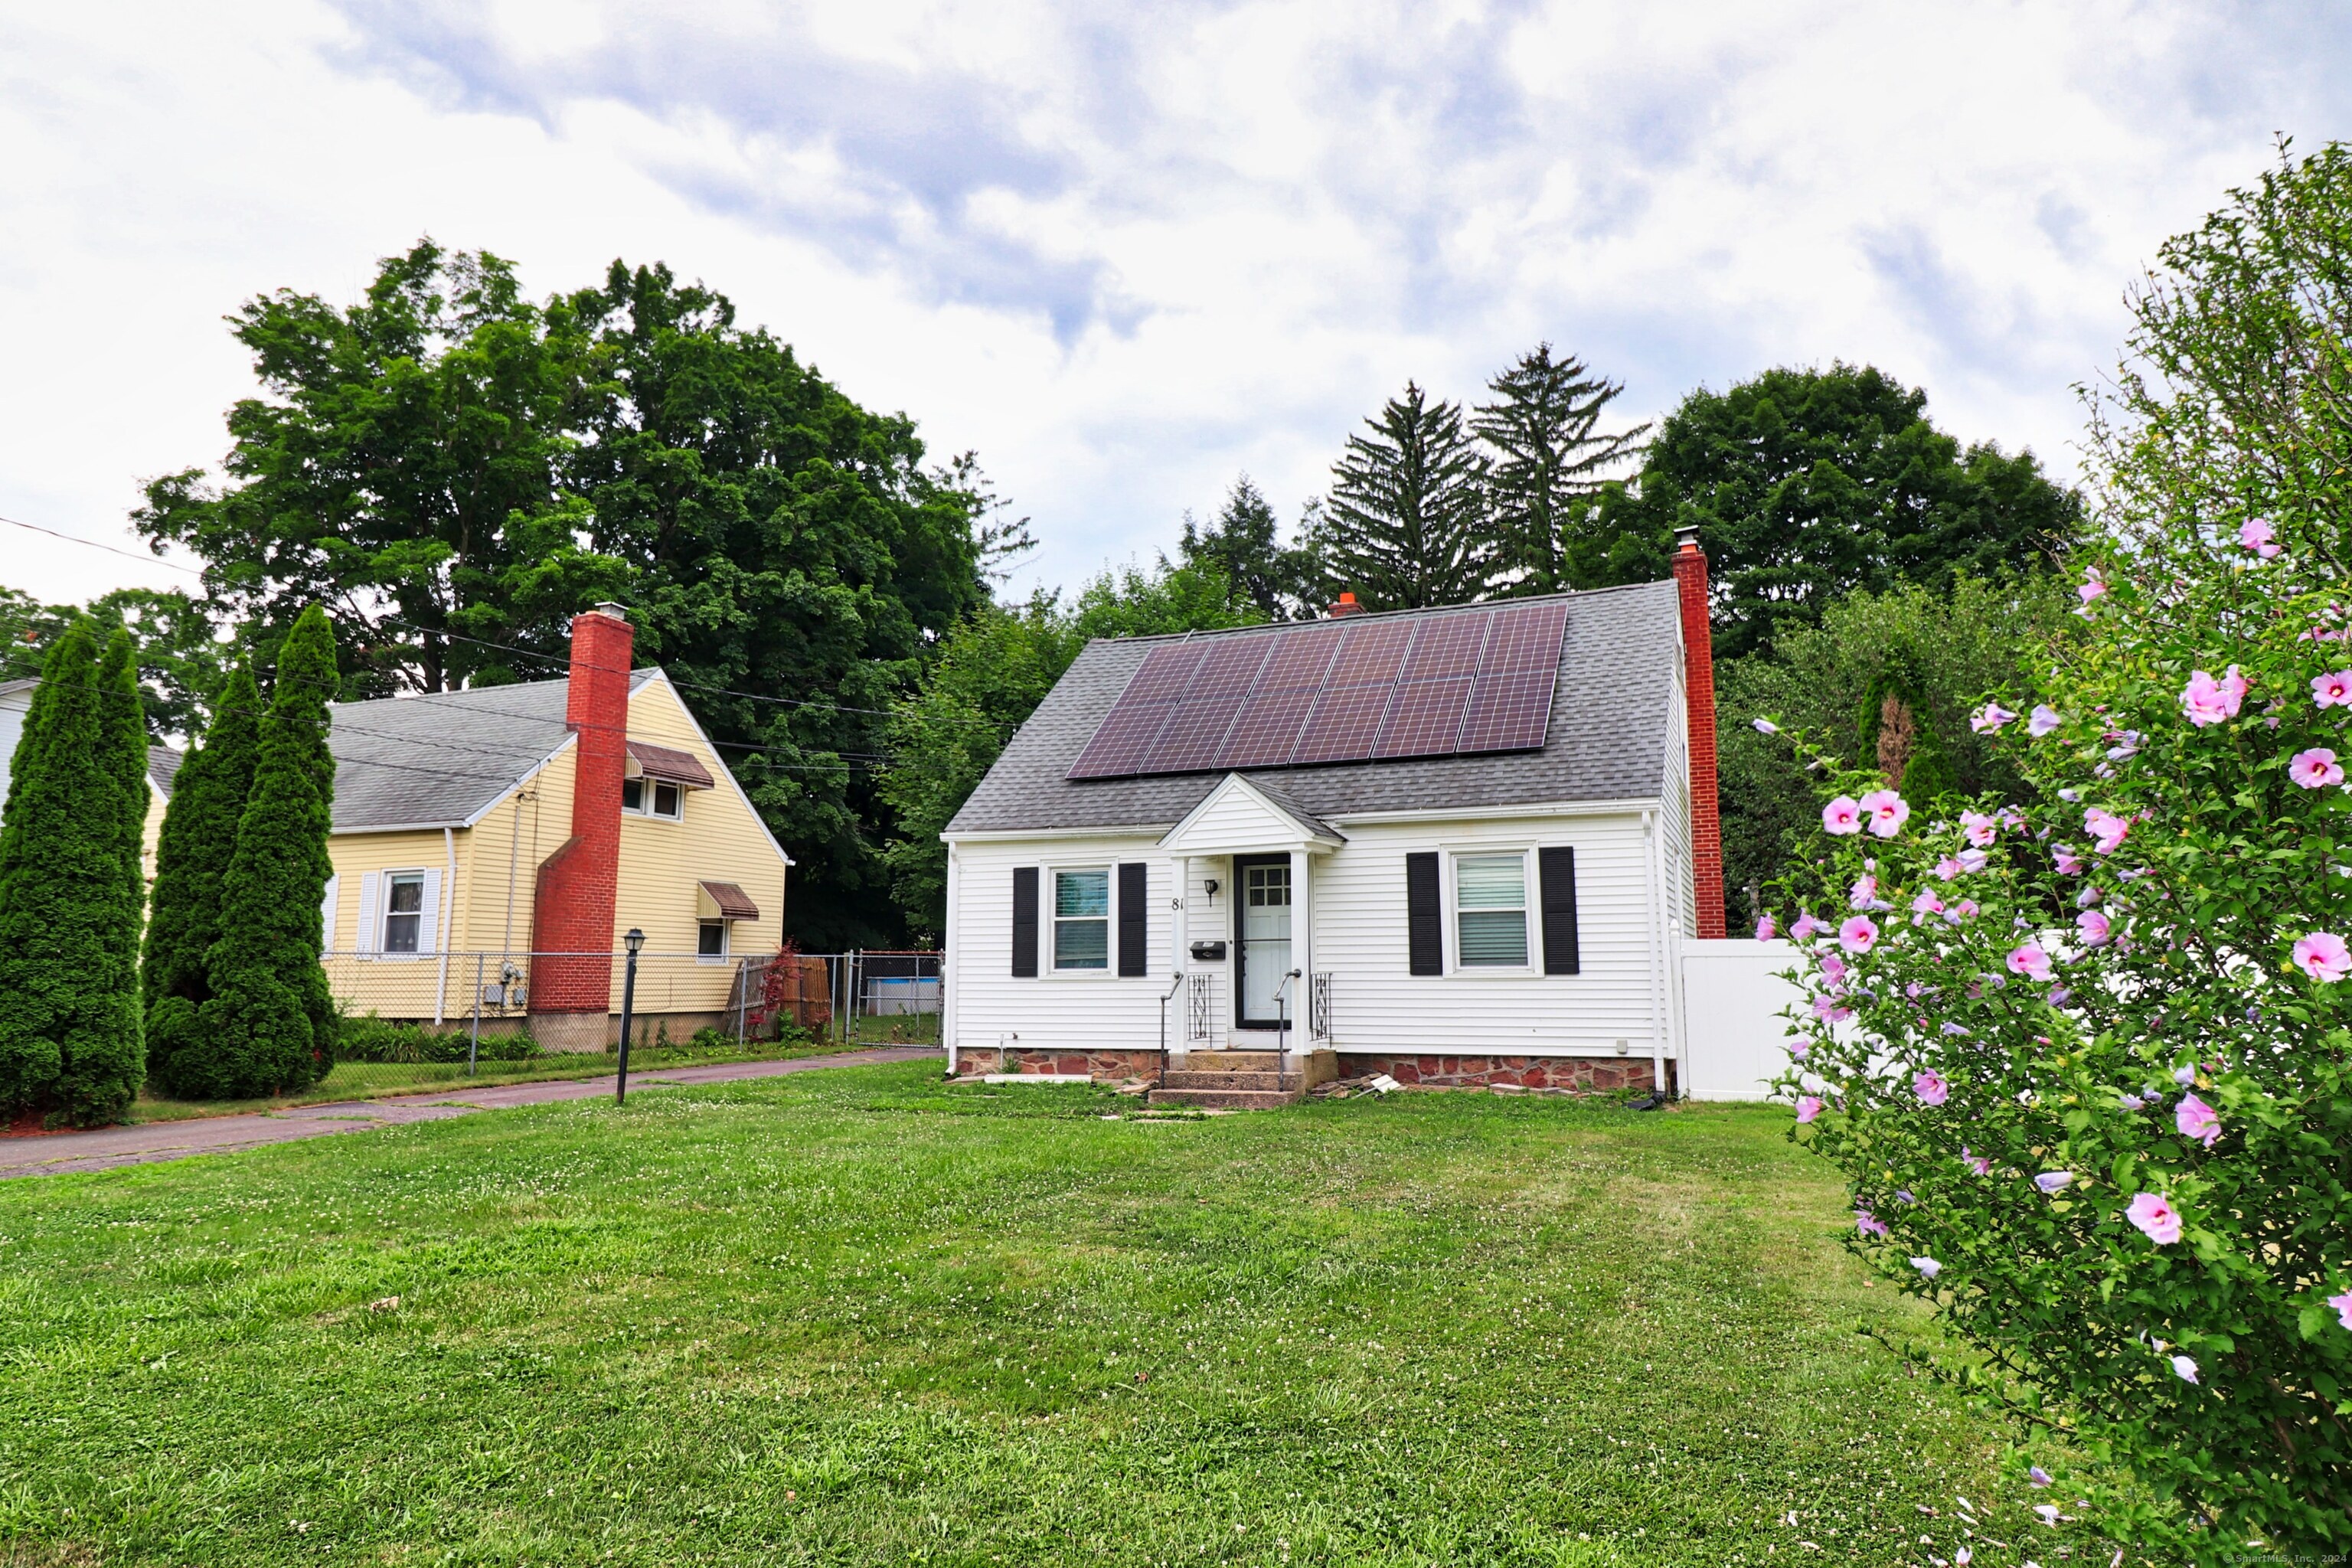
[[[1131,1110],[908,1063],[0,1182],[0,1561],[2025,1544],[1785,1112]]]

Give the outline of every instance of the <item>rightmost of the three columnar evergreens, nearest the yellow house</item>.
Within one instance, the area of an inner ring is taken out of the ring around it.
[[[341,677],[327,614],[294,618],[278,649],[278,682],[261,719],[254,788],[221,879],[221,936],[207,954],[212,997],[191,1048],[174,1053],[186,1093],[252,1098],[315,1084],[334,1065],[320,903],[327,877],[334,757],[327,698]]]

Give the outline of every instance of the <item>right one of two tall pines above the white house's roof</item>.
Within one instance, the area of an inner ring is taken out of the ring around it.
[[[1501,454],[1486,484],[1501,564],[1519,574],[1517,592],[1576,588],[1569,531],[1649,425],[1599,435],[1623,383],[1595,376],[1576,355],[1555,360],[1550,343],[1519,355],[1486,390],[1496,400],[1477,407],[1470,428]]]

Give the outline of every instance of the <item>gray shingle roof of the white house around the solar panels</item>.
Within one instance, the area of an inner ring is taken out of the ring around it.
[[[1665,788],[1665,741],[1675,731],[1675,665],[1682,656],[1675,583],[1559,597],[1569,607],[1569,628],[1559,646],[1559,686],[1543,750],[1249,769],[1249,780],[1279,790],[1287,804],[1317,818],[1658,795]],[[1272,628],[1195,637],[1263,637],[1268,630]],[[1065,776],[1143,656],[1160,642],[1171,639],[1089,642],[988,769],[948,832],[1155,827],[1183,820],[1223,771],[1084,783]]]

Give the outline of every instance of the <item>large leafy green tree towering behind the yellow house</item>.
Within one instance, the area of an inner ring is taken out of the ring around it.
[[[927,468],[910,418],[661,266],[534,303],[423,240],[350,308],[278,292],[233,334],[263,395],[221,477],[136,515],[214,614],[266,656],[322,604],[343,696],[376,696],[562,675],[567,618],[619,599],[790,842],[797,936],[896,936],[880,724],[1025,541],[969,456]]]

